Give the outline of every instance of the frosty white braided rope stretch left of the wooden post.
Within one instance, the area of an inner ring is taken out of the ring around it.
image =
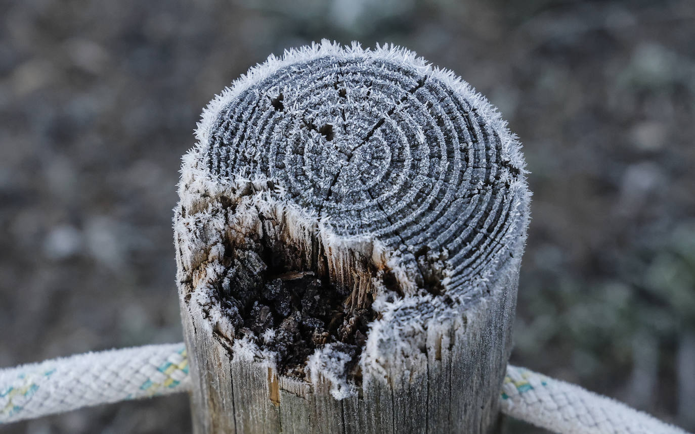
[[[78,354],[0,369],[0,424],[188,389],[182,343]]]

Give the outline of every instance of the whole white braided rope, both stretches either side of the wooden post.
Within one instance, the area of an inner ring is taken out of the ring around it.
[[[0,369],[0,424],[189,389],[183,344],[79,354]],[[686,433],[613,399],[512,365],[500,404],[505,414],[556,433]]]

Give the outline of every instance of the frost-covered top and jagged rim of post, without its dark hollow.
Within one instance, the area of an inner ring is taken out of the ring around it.
[[[411,51],[323,41],[270,56],[211,101],[196,137],[174,222],[179,280],[192,278],[193,301],[230,340],[247,314],[215,298],[235,273],[222,265],[229,244],[270,237],[297,246],[302,267],[325,256],[331,280],[380,317],[360,359],[379,378],[421,367],[425,331],[447,333],[517,269],[530,196],[520,145],[468,83]],[[365,258],[400,296],[357,271]],[[266,265],[252,262],[259,276]],[[326,345],[309,363],[336,398],[354,392],[339,352]]]

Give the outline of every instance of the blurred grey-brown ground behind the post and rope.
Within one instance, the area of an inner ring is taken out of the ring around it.
[[[0,367],[181,340],[171,219],[199,113],[322,37],[414,49],[521,138],[512,362],[695,430],[692,0],[0,0]],[[0,431],[187,433],[188,399]]]

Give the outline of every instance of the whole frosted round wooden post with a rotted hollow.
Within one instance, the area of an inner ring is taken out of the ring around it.
[[[177,278],[195,430],[489,432],[530,193],[452,72],[327,41],[207,106]]]

